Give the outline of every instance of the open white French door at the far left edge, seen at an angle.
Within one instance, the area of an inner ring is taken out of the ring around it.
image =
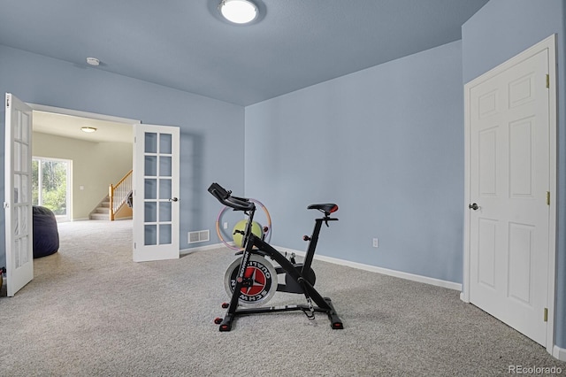
[[[34,279],[32,109],[6,93],[4,210],[7,295]]]

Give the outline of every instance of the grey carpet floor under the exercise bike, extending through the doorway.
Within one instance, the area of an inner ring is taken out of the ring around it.
[[[460,301],[459,292],[315,261],[323,314],[213,319],[233,251],[134,263],[131,220],[60,224],[61,247],[34,280],[0,297],[2,376],[456,376],[509,365],[562,368],[539,344]],[[270,304],[304,304],[278,294]]]

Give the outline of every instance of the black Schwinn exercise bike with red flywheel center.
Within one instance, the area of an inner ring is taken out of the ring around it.
[[[241,254],[241,257],[237,258],[226,271],[225,286],[226,290],[231,292],[231,299],[230,303],[222,305],[227,309],[224,319],[214,320],[219,325],[219,330],[230,331],[233,320],[241,315],[292,311],[302,311],[310,320],[315,319],[316,312],[326,313],[333,329],[344,328],[340,317],[334,310],[332,300],[321,296],[314,288],[316,276],[311,268],[322,224],[325,223],[328,226],[329,221],[338,220],[330,217],[331,213],[338,211],[338,205],[309,205],[308,209],[323,212],[324,217],[315,219],[315,227],[311,236],[303,237],[305,241],[309,241],[309,247],[303,263],[296,263],[294,255],[287,259],[262,237],[252,233],[256,205],[250,199],[232,196],[232,191],[222,188],[218,183],[212,183],[209,192],[221,204],[233,208],[234,211],[244,212],[248,216],[246,228],[241,231],[243,250],[238,253]],[[273,267],[267,258],[275,260],[279,267]],[[285,284],[279,284],[277,275],[281,273],[285,274]],[[256,305],[269,301],[277,291],[302,294],[307,304],[256,307]],[[238,308],[239,305],[242,307]]]

